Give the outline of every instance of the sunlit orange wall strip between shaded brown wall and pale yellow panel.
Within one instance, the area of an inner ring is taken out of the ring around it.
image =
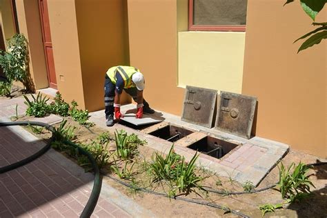
[[[184,89],[177,88],[177,1],[128,0],[130,64],[146,78],[152,108],[181,115]]]

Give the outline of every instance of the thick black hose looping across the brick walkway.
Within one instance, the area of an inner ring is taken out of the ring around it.
[[[30,161],[33,161],[34,159],[37,159],[41,155],[43,155],[47,150],[49,150],[51,146],[51,142],[54,141],[54,132],[55,129],[49,125],[48,123],[41,123],[41,122],[34,122],[34,121],[16,121],[16,122],[0,122],[0,126],[43,126],[50,130],[52,132],[52,137],[50,138],[50,141],[44,146],[41,150],[34,153],[30,157],[27,157],[26,159],[22,159],[21,161],[18,161],[14,164],[10,164],[8,166],[4,166],[0,168],[0,173],[7,172],[9,170],[14,170],[15,168],[18,168],[19,166],[23,166],[25,164],[28,164]],[[72,143],[71,141],[65,140],[63,143],[66,143],[68,146],[72,146],[74,148],[77,148],[79,152],[83,155],[86,155],[88,159],[90,160],[93,170],[95,171],[95,181],[93,184],[93,188],[90,194],[90,197],[88,199],[88,202],[86,203],[86,206],[84,207],[83,211],[81,212],[82,218],[90,217],[92,215],[93,210],[95,210],[95,206],[97,206],[97,200],[99,199],[99,195],[101,192],[101,177],[100,177],[100,171],[99,167],[97,166],[97,162],[95,161],[94,157],[85,149],[79,147],[77,144]]]

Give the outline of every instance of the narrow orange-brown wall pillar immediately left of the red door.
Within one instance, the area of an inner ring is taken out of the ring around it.
[[[39,3],[37,0],[16,0],[19,32],[28,40],[30,75],[34,88],[47,88],[46,59],[44,56]]]

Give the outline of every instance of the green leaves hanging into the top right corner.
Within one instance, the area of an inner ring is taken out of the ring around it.
[[[293,2],[294,0],[287,0],[286,4]],[[303,8],[304,12],[308,14],[308,16],[315,21],[317,14],[324,8],[326,0],[300,0],[301,7]],[[316,44],[319,44],[322,39],[327,39],[327,23],[313,23],[313,26],[320,26],[315,30],[304,34],[304,36],[299,37],[299,39],[306,39],[304,43],[300,46],[297,52],[301,50],[305,50],[306,48],[310,48]],[[295,40],[299,41],[299,39]]]

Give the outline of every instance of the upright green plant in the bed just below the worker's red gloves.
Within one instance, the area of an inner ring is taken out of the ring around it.
[[[121,159],[130,159],[137,154],[137,143],[128,142],[127,132],[121,130],[115,132],[116,152]]]

